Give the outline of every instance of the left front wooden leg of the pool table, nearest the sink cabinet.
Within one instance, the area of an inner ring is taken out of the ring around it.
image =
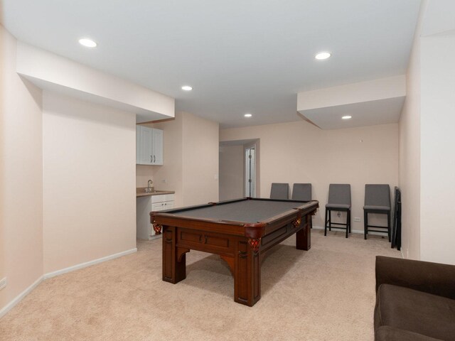
[[[177,227],[166,226],[163,233],[163,281],[178,283],[186,278],[186,252],[176,247]]]

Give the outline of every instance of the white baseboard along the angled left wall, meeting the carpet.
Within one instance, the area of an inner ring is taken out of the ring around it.
[[[31,291],[33,291],[33,289],[36,288],[36,286],[38,286],[38,284],[41,283],[42,281],[44,281],[45,279],[52,278],[52,277],[55,277],[55,276],[58,276],[58,275],[62,275],[62,274],[66,274],[68,272],[75,271],[75,270],[78,270],[78,269],[86,268],[87,266],[99,264],[99,263],[102,263],[103,261],[110,261],[111,259],[116,259],[116,258],[119,258],[121,256],[126,256],[127,254],[132,254],[134,252],[137,252],[137,248],[130,249],[130,250],[127,250],[127,251],[122,251],[122,252],[119,252],[118,254],[111,254],[109,256],[105,256],[105,257],[102,257],[102,258],[99,258],[99,259],[94,259],[93,261],[86,261],[85,263],[77,264],[75,266],[70,266],[70,267],[65,268],[65,269],[61,269],[61,270],[49,272],[48,274],[44,274],[43,276],[38,278],[31,286],[26,288],[26,290],[22,291],[18,296],[16,296],[13,299],[13,301],[11,301],[7,305],[5,305],[4,308],[1,308],[1,310],[0,310],[0,318],[2,316],[4,316],[6,313],[8,313],[9,310],[11,310],[11,308],[14,307],[14,305],[16,305],[17,303],[21,302],[22,299],[28,295],[28,293],[31,293]]]

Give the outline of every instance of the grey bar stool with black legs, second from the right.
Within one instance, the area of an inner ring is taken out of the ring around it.
[[[346,211],[346,223],[332,222],[332,211]],[[350,185],[331,183],[328,186],[328,202],[326,205],[324,236],[327,235],[327,227],[329,231],[332,229],[346,229],[346,238],[348,238],[348,233],[350,233]]]

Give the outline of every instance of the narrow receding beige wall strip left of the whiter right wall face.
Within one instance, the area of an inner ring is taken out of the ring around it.
[[[422,16],[423,11],[421,12]],[[407,68],[405,105],[400,115],[400,190],[402,193],[402,254],[420,259],[420,31],[414,36]]]

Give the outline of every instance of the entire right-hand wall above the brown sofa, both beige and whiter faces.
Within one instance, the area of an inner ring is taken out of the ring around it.
[[[402,253],[455,264],[455,31],[432,34],[440,18],[429,11],[435,5],[422,1],[400,117]],[[422,36],[424,26],[431,32],[427,36]]]

